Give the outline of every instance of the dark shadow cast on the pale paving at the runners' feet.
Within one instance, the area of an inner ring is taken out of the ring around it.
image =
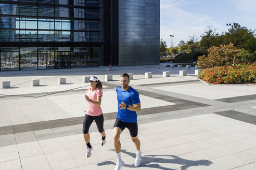
[[[112,151],[114,151],[113,149],[110,149]],[[127,152],[125,149],[121,149],[122,153],[126,153],[131,155],[134,159],[136,158],[136,154],[132,153],[132,152]],[[157,158],[158,156],[161,157],[172,157],[173,159],[163,159],[163,158]],[[172,163],[172,164],[180,164],[183,165],[181,167],[181,170],[186,170],[188,167],[190,166],[209,166],[210,164],[212,164],[211,161],[209,160],[197,160],[197,161],[191,161],[191,160],[187,160],[187,159],[182,159],[181,157],[177,157],[176,155],[168,155],[168,154],[162,154],[162,155],[145,155],[144,157],[141,157],[142,162],[140,163],[139,167],[151,167],[151,168],[158,168],[158,169],[163,169],[163,170],[175,170],[175,169],[171,169],[171,168],[167,168],[167,167],[163,167],[160,166],[157,163]],[[151,162],[154,162],[156,164],[149,164]],[[199,164],[200,163],[200,164]],[[116,163],[112,162],[112,161],[105,161],[105,162],[101,162],[98,163],[98,166],[103,166],[103,165],[116,165]],[[134,165],[129,165],[129,164],[124,164],[125,167],[134,167]]]

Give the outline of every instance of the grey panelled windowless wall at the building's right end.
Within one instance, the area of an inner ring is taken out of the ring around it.
[[[160,0],[119,1],[119,65],[159,64]]]

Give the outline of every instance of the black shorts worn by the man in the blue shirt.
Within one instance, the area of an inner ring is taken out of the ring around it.
[[[122,131],[127,127],[132,137],[136,137],[138,135],[138,124],[123,122],[122,120],[116,118],[116,122],[114,123],[114,127],[119,127]]]

